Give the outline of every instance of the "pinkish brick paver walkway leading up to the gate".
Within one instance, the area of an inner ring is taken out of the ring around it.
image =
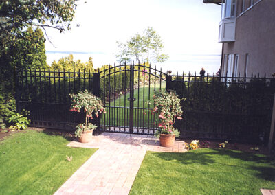
[[[99,148],[55,193],[129,194],[147,150],[185,152],[184,141],[173,148],[159,146],[153,136],[102,133],[91,143],[72,141],[67,146]]]

